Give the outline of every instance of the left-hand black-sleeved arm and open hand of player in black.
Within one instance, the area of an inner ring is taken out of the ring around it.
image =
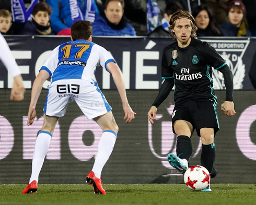
[[[174,78],[168,78],[165,79],[164,83],[162,83],[162,86],[159,90],[159,93],[156,97],[156,100],[152,104],[152,107],[147,113],[147,116],[149,118],[149,121],[152,125],[154,125],[154,119],[156,119],[156,112],[157,112],[157,107],[164,102],[164,100],[168,97],[170,94],[172,88],[174,86]]]

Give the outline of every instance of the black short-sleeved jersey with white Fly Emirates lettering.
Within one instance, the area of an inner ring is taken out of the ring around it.
[[[162,53],[162,78],[174,78],[176,103],[185,100],[217,103],[212,67],[219,69],[225,65],[222,56],[207,42],[192,39],[189,46],[181,48],[176,41]]]

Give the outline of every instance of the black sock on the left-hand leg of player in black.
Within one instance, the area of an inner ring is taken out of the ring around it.
[[[192,151],[193,150],[190,138],[185,135],[180,135],[177,138],[177,156],[180,159],[186,159],[189,161]]]

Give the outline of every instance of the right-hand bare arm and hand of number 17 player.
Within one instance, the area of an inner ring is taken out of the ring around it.
[[[124,86],[124,80],[123,76],[121,73],[121,70],[119,67],[114,63],[110,62],[107,64],[107,69],[109,73],[111,73],[115,86],[117,86],[118,92],[120,94],[121,100],[122,100],[122,105],[123,105],[123,110],[124,110],[124,120],[126,119],[126,123],[130,123],[136,115],[135,112],[133,112],[132,108],[129,105],[129,102],[126,97],[126,91],[125,91],[125,86]]]

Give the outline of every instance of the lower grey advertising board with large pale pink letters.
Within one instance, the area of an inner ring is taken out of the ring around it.
[[[31,90],[25,100],[9,100],[10,89],[0,89],[0,183],[26,183],[31,173],[34,143],[43,123],[43,90],[38,100],[37,117],[27,126]],[[118,139],[112,155],[103,168],[105,184],[182,183],[182,175],[167,161],[169,152],[176,152],[176,136],[172,133],[172,92],[158,108],[154,126],[147,112],[156,90],[128,90],[127,96],[136,118],[130,124],[123,121],[124,112],[118,91],[104,90],[119,125]],[[253,184],[256,168],[256,95],[255,91],[236,90],[236,115],[227,117],[220,111],[225,91],[215,92],[220,131],[215,138],[218,174],[212,183]],[[99,105],[101,106],[101,105]],[[68,106],[54,130],[48,154],[39,177],[40,183],[84,184],[91,171],[101,137],[100,127],[88,120],[75,103]],[[190,165],[200,164],[200,138],[192,136],[193,153]]]

